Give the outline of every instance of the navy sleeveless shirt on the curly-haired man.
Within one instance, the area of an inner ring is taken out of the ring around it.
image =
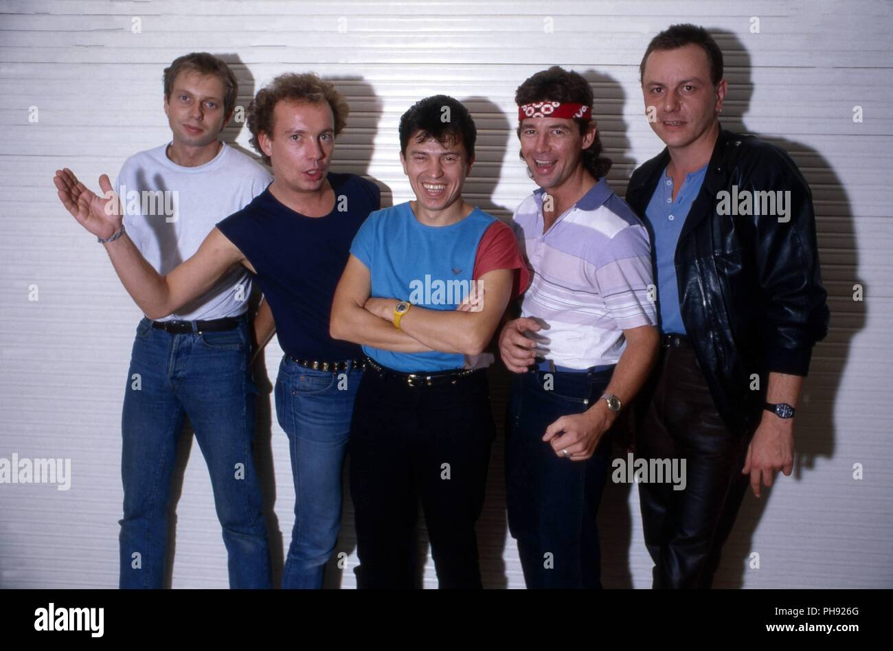
[[[267,188],[217,224],[257,271],[255,280],[270,303],[282,350],[323,362],[362,356],[360,346],[330,337],[329,321],[350,243],[381,205],[380,190],[371,181],[336,172],[329,172],[328,179],[335,207],[325,217],[296,213]]]

